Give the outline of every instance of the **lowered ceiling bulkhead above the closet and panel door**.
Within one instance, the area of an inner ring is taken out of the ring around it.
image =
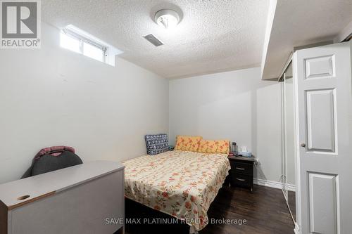
[[[330,41],[352,20],[352,0],[279,0],[263,79],[277,79],[294,47]]]

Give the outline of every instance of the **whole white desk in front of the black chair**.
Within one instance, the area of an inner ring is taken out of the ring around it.
[[[123,169],[85,162],[1,184],[0,234],[114,233],[123,222],[106,219],[125,217]]]

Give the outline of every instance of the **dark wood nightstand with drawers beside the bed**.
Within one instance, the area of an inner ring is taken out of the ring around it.
[[[251,189],[253,192],[253,164],[256,161],[254,157],[229,156],[231,170],[231,186],[243,186]]]

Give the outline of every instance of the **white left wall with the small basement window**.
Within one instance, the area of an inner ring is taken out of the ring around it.
[[[0,50],[0,183],[20,178],[47,146],[120,161],[146,152],[144,134],[168,132],[168,80],[58,44],[59,31],[43,22],[41,49]]]

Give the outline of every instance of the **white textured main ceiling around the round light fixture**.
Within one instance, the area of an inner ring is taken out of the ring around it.
[[[42,0],[42,20],[75,25],[166,78],[260,65],[269,0]],[[162,8],[182,11],[174,30],[153,22]],[[155,47],[143,38],[153,34]]]

